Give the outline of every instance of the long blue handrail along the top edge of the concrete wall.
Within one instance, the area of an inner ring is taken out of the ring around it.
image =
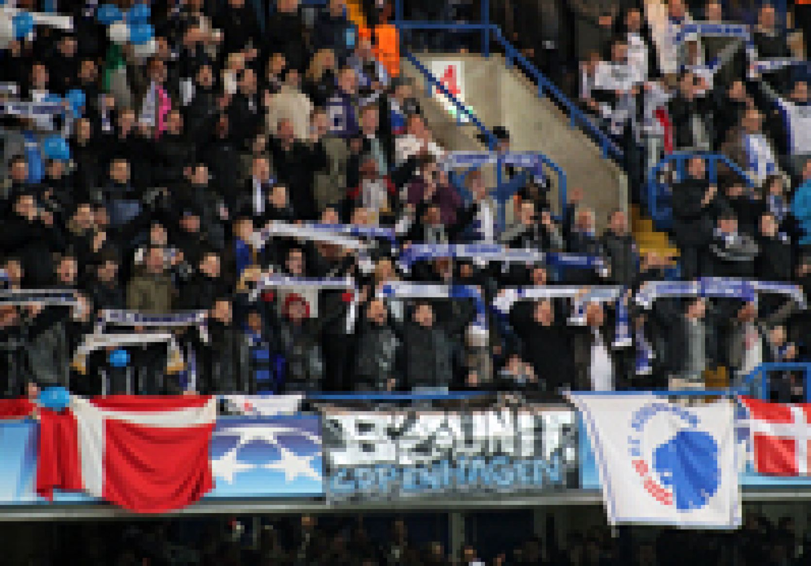
[[[398,0],[397,4],[400,4],[400,0]],[[614,157],[618,160],[622,159],[623,151],[622,149],[614,143],[608,134],[603,132],[597,126],[594,121],[591,121],[589,117],[586,116],[577,104],[574,104],[572,100],[569,100],[569,97],[566,96],[563,91],[560,90],[556,86],[555,83],[552,83],[551,80],[547,78],[536,66],[532,64],[526,57],[524,57],[518,49],[516,49],[508,40],[504,37],[504,34],[501,32],[501,28],[499,28],[495,24],[491,23],[445,23],[445,22],[420,22],[420,21],[405,21],[397,17],[397,19],[393,22],[398,29],[400,30],[446,30],[446,31],[453,31],[453,32],[483,32],[483,38],[489,38],[490,34],[492,33],[495,37],[496,41],[501,45],[502,49],[504,49],[505,58],[507,61],[508,66],[512,65],[513,62],[518,62],[521,64],[523,70],[530,75],[530,79],[533,79],[535,83],[538,84],[538,96],[550,96],[553,100],[556,101],[557,104],[560,104],[565,110],[566,113],[569,114],[569,123],[571,127],[581,126],[584,130],[586,130],[589,134],[593,135],[594,138],[597,138],[599,142],[599,146],[603,151],[603,157]],[[483,46],[483,54],[485,57],[489,57],[489,45]]]

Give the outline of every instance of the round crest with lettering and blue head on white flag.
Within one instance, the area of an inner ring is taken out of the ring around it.
[[[672,428],[655,424],[660,418],[676,419],[682,428],[673,434]],[[669,437],[663,437],[663,430]],[[637,481],[654,500],[680,510],[697,509],[718,491],[718,444],[702,431],[697,415],[670,403],[653,402],[633,413],[631,431],[631,464]]]

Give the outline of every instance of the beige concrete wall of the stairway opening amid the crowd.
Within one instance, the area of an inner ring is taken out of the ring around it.
[[[560,109],[550,100],[540,99],[534,85],[518,70],[508,69],[502,57],[493,55],[486,59],[473,54],[423,53],[418,58],[424,63],[431,59],[463,61],[466,104],[488,128],[506,127],[514,151],[539,151],[560,165],[566,173],[569,190],[577,186],[583,189],[584,201],[597,212],[599,226],[605,225],[607,213],[612,209],[627,208],[627,182],[620,167],[603,159],[599,147],[580,130],[571,129],[569,119]],[[410,69],[412,76],[414,72]],[[422,86],[423,82],[419,80],[417,84]],[[429,104],[424,91],[422,94],[421,103],[444,114],[444,121],[456,128],[455,121],[439,104]],[[434,127],[444,130],[442,117],[431,114],[429,119]],[[471,128],[474,126],[464,126],[462,130]],[[453,134],[448,135],[448,139],[451,141],[446,144],[449,149],[472,149],[469,144],[457,147]],[[480,145],[476,148],[483,149]],[[551,196],[557,205],[557,191],[553,190]]]

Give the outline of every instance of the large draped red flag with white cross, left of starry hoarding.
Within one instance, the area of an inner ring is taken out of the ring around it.
[[[83,490],[136,513],[161,513],[213,487],[209,448],[217,398],[71,398],[43,411],[37,492]]]

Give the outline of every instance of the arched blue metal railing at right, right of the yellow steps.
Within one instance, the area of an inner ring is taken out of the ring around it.
[[[718,182],[718,164],[721,162],[732,171],[736,172],[744,180],[746,185],[750,188],[754,187],[754,182],[749,178],[749,175],[726,155],[693,151],[677,151],[670,155],[665,155],[663,159],[650,168],[648,172],[648,213],[650,214],[650,218],[652,218],[660,228],[670,228],[672,223],[672,206],[670,202],[670,183],[660,182],[659,176],[666,167],[673,164],[675,166],[673,170],[676,173],[676,179],[679,181],[684,179],[684,171],[687,162],[694,157],[702,157],[706,160],[707,178],[711,184],[714,185]]]

